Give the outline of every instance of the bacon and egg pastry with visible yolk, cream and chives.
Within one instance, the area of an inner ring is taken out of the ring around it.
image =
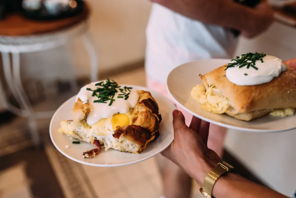
[[[62,121],[59,132],[94,144],[97,148],[83,153],[90,158],[113,148],[141,153],[159,136],[161,115],[148,91],[133,91],[113,80],[84,86],[76,96],[73,120]]]

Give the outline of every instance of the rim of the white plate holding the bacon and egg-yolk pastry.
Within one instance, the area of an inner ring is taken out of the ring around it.
[[[143,90],[147,90],[147,91],[153,91],[153,90],[151,90],[151,89],[149,89],[149,88],[147,88],[147,87],[143,87],[143,86],[138,86],[138,85],[130,85],[130,84],[119,84],[119,85],[121,85],[121,86],[133,86],[133,87],[137,87],[137,89],[138,88],[144,88]],[[154,92],[156,92],[156,91],[154,91]],[[170,101],[170,99],[168,99],[166,96],[164,96],[164,95],[162,95],[161,93],[158,93],[162,98],[165,98],[165,99],[167,99],[167,100],[169,100]],[[94,166],[94,167],[120,167],[120,166],[126,166],[126,165],[130,165],[130,164],[136,164],[136,163],[139,163],[139,162],[141,162],[141,161],[145,161],[145,160],[147,160],[147,159],[150,159],[150,158],[152,158],[152,157],[154,157],[154,156],[156,156],[156,155],[158,155],[159,153],[161,153],[161,152],[163,152],[165,149],[167,149],[170,145],[171,145],[171,143],[174,141],[174,134],[172,133],[172,138],[171,138],[171,140],[169,140],[169,143],[168,144],[166,144],[162,149],[160,149],[159,151],[157,151],[156,153],[152,153],[151,155],[149,155],[149,156],[147,156],[147,157],[144,157],[144,158],[142,158],[142,159],[138,159],[138,160],[135,160],[135,161],[131,161],[131,162],[126,162],[126,163],[120,163],[120,164],[95,164],[95,163],[89,163],[89,162],[85,162],[85,161],[81,161],[81,160],[78,160],[78,159],[76,159],[76,158],[74,158],[74,157],[71,157],[71,156],[69,156],[67,153],[65,153],[65,152],[63,152],[58,146],[57,146],[57,144],[56,144],[56,142],[54,141],[54,139],[53,139],[53,137],[52,137],[52,123],[53,123],[53,118],[55,117],[55,115],[58,113],[58,111],[59,111],[59,109],[60,108],[62,108],[69,100],[71,100],[72,98],[74,98],[74,97],[76,97],[76,95],[77,94],[75,94],[74,96],[72,96],[72,97],[70,97],[69,99],[67,99],[63,104],[61,104],[60,106],[59,106],[59,108],[57,108],[57,110],[54,112],[54,115],[52,116],[52,118],[51,118],[51,121],[50,121],[50,123],[49,123],[49,136],[50,136],[50,139],[51,139],[51,141],[52,141],[52,143],[53,143],[53,145],[54,145],[54,147],[60,152],[60,153],[62,153],[64,156],[66,156],[67,158],[69,158],[69,159],[71,159],[71,160],[73,160],[73,161],[75,161],[75,162],[78,162],[78,163],[80,163],[80,164],[84,164],[84,165],[88,165],[88,166]],[[170,101],[170,102],[172,102],[172,101]],[[173,102],[172,102],[173,103]],[[175,105],[174,105],[175,106]],[[82,158],[82,157],[81,157]]]

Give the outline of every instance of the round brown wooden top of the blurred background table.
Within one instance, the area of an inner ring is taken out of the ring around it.
[[[0,20],[0,35],[2,36],[30,36],[59,31],[86,20],[89,17],[89,6],[84,3],[84,10],[73,17],[52,21],[34,21],[23,18],[20,14],[9,14]]]

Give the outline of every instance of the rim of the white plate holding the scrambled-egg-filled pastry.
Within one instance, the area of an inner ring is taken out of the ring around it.
[[[211,61],[211,60],[216,60],[216,61],[226,61],[226,60],[231,60],[231,59],[227,59],[227,58],[209,58],[209,59],[202,59],[202,60],[197,60],[197,61],[190,61],[190,62],[187,62],[187,63],[184,63],[184,64],[181,64],[177,67],[175,67],[174,69],[172,69],[172,71],[170,71],[168,77],[167,77],[167,80],[166,80],[166,88],[167,88],[167,91],[170,95],[170,97],[173,99],[173,101],[178,104],[180,107],[182,107],[184,110],[186,110],[188,113],[191,113],[193,116],[196,116],[197,118],[200,118],[204,121],[207,121],[209,123],[213,123],[213,124],[216,124],[216,125],[219,125],[219,126],[222,126],[224,128],[227,128],[227,129],[235,129],[235,130],[239,130],[239,131],[245,131],[245,132],[253,132],[253,133],[256,133],[256,132],[260,132],[260,133],[276,133],[276,132],[286,132],[286,131],[291,131],[293,129],[296,129],[296,126],[293,127],[293,128],[290,128],[290,129],[284,129],[284,130],[281,130],[281,129],[275,129],[275,130],[272,130],[272,129],[250,129],[250,128],[245,128],[245,127],[239,127],[239,126],[233,126],[233,125],[230,125],[230,124],[225,124],[225,123],[221,123],[221,122],[218,122],[218,121],[214,121],[214,120],[211,120],[209,118],[205,118],[203,117],[202,115],[199,115],[197,113],[195,113],[194,111],[188,109],[187,107],[185,107],[183,104],[181,104],[174,96],[173,94],[171,93],[170,91],[170,88],[168,86],[168,79],[170,77],[170,75],[172,74],[172,72],[179,68],[179,67],[182,67],[184,65],[187,65],[189,63],[194,63],[194,62],[200,62],[200,61]],[[217,67],[218,68],[218,67]]]

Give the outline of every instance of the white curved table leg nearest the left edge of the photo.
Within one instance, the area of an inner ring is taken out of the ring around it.
[[[25,116],[28,119],[32,142],[35,146],[38,146],[40,143],[40,138],[37,129],[36,117],[29,100],[25,95],[20,78],[20,54],[12,53],[12,68],[15,75],[14,77],[12,77],[9,53],[2,53],[2,59],[5,79],[14,97],[17,99],[23,109],[24,113],[22,116]]]

